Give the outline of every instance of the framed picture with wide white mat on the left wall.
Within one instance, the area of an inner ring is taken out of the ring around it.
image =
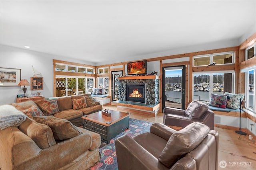
[[[0,86],[18,86],[21,69],[0,67]]]

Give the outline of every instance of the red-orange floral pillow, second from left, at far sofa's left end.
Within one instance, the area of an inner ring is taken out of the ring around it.
[[[42,101],[42,107],[43,107],[43,113],[46,116],[53,115],[55,113],[60,112],[57,104],[57,99]]]

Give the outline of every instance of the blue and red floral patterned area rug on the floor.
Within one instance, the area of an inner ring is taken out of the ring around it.
[[[140,121],[136,119],[129,119],[130,128],[124,130],[124,132],[117,135],[114,139],[110,140],[110,143],[100,148],[101,159],[95,166],[92,166],[90,170],[118,170],[116,160],[116,146],[115,141],[122,135],[128,135],[135,137],[141,133],[149,132],[150,125],[153,123],[147,121]]]

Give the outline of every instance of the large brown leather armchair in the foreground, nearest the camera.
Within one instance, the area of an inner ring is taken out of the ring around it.
[[[150,132],[116,140],[119,170],[217,170],[218,132],[194,122],[180,131],[154,123]]]

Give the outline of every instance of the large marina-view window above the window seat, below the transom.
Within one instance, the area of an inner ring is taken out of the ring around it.
[[[193,74],[193,100],[210,102],[211,93],[232,93],[234,90],[234,72],[210,72]]]

